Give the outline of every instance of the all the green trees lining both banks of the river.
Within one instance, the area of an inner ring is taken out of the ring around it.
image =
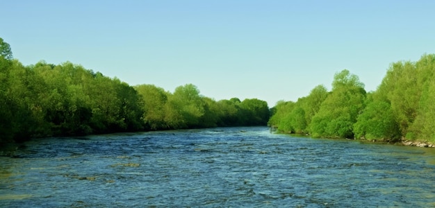
[[[33,137],[270,125],[313,137],[435,143],[435,55],[394,62],[375,92],[347,69],[332,89],[319,85],[296,102],[215,101],[195,85],[173,93],[65,62],[23,66],[0,38],[0,145]],[[270,117],[270,115],[272,116]]]

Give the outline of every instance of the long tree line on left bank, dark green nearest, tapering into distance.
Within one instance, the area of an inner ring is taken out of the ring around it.
[[[266,125],[265,101],[215,101],[195,85],[173,93],[65,62],[24,66],[0,38],[0,144],[33,137]]]

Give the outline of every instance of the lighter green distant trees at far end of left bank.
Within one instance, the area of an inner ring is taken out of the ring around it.
[[[135,89],[142,96],[142,119],[150,130],[266,125],[270,116],[265,101],[215,101],[199,94],[192,84],[177,87],[173,94],[154,85],[138,85]]]

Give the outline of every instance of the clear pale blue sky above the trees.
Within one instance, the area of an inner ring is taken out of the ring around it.
[[[23,64],[66,61],[130,85],[192,83],[216,100],[272,107],[349,69],[372,91],[391,62],[435,53],[435,1],[0,3],[0,37]]]

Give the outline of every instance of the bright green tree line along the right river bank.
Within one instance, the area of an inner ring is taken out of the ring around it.
[[[393,62],[374,92],[340,71],[331,91],[319,85],[296,102],[279,101],[268,125],[312,137],[434,143],[434,103],[435,54],[425,54],[416,62]]]

